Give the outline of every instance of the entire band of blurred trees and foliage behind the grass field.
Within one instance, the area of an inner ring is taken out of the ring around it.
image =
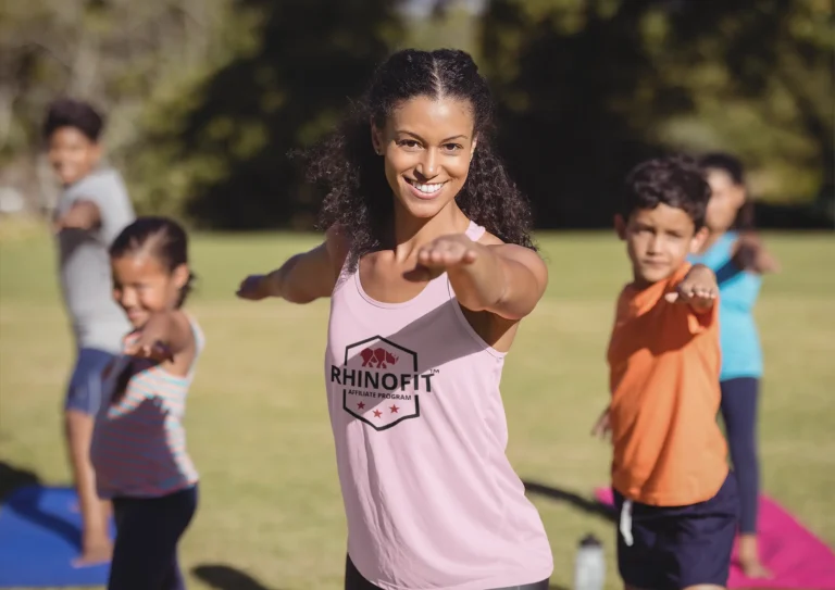
[[[30,206],[59,95],[109,113],[142,211],[309,228],[287,159],[401,47],[471,51],[541,227],[608,225],[624,172],[738,153],[767,225],[833,223],[833,0],[27,0],[0,2],[0,187]]]

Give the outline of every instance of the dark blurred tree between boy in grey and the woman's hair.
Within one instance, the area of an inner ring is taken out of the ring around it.
[[[257,15],[254,46],[196,93],[175,97],[163,125],[134,148],[155,208],[188,197],[200,225],[309,228],[319,203],[287,158],[331,129],[401,35],[388,0],[236,0]],[[256,17],[256,16],[252,16]],[[150,175],[153,173],[153,177]]]

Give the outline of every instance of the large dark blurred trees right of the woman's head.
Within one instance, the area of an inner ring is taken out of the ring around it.
[[[669,148],[737,151],[760,192],[812,197],[833,165],[828,3],[489,2],[501,143],[539,225],[610,223],[624,173]]]

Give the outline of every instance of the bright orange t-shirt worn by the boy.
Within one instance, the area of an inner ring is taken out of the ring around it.
[[[689,268],[644,290],[626,286],[609,342],[612,485],[641,504],[703,502],[728,473],[716,423],[719,301],[699,314],[664,299]]]

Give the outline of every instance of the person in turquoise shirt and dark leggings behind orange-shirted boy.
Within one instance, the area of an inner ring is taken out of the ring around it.
[[[706,215],[710,234],[690,261],[710,266],[719,279],[721,407],[739,487],[739,563],[749,578],[763,578],[770,573],[760,562],[757,547],[757,400],[762,350],[752,311],[762,275],[778,271],[778,265],[751,230],[751,202],[741,163],[728,154],[711,153],[700,164],[711,188]]]

